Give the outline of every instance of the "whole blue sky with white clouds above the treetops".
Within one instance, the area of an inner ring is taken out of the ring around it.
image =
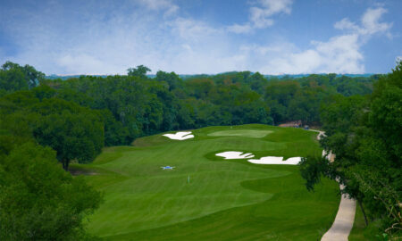
[[[0,64],[46,75],[387,73],[400,0],[0,0]]]

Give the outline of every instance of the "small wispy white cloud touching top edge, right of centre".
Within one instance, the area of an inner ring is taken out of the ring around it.
[[[249,33],[253,29],[265,29],[273,25],[272,15],[291,12],[292,0],[256,0],[249,8],[249,21],[233,24],[228,30],[234,33]]]

